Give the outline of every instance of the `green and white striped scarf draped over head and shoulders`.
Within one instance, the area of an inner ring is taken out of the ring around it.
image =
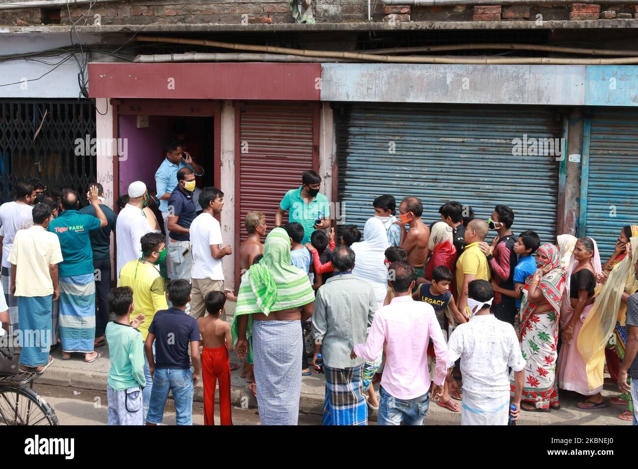
[[[290,264],[288,233],[283,228],[275,228],[266,237],[262,260],[259,264],[251,265],[241,278],[232,326],[233,342],[237,342],[238,316],[253,313],[268,316],[271,311],[299,308],[313,301],[315,292],[308,274]],[[246,329],[247,338],[251,336],[251,323],[252,316]]]

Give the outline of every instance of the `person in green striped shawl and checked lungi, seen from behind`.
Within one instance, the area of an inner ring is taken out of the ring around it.
[[[242,276],[232,327],[239,357],[253,355],[262,425],[297,425],[303,346],[299,320],[313,315],[314,302],[308,274],[290,265],[290,237],[275,228],[266,237],[262,260]]]

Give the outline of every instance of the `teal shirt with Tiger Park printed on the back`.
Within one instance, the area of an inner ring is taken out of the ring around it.
[[[59,275],[93,274],[93,251],[89,231],[100,228],[100,219],[77,210],[65,210],[48,224],[57,235],[62,248],[63,262],[58,264]]]

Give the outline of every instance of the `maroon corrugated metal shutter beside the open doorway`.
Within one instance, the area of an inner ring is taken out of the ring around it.
[[[301,175],[318,169],[318,107],[304,104],[246,104],[239,107],[239,223],[251,210],[266,214],[269,230],[286,191]],[[286,220],[284,220],[286,221]],[[239,249],[239,246],[237,246]]]

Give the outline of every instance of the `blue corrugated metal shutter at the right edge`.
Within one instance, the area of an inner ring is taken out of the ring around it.
[[[638,111],[593,110],[584,140],[579,233],[596,240],[604,261],[621,228],[638,223]]]

